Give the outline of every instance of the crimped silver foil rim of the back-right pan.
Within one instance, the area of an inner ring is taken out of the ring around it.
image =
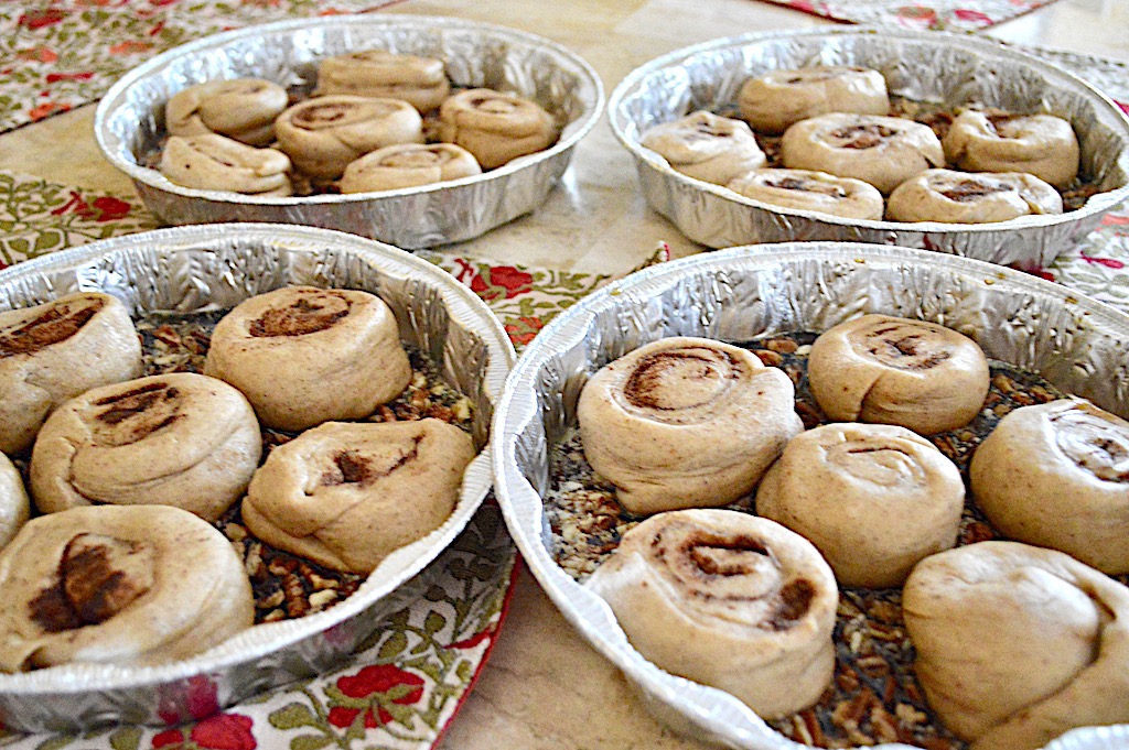
[[[676,182],[691,187],[693,189],[711,193],[718,197],[725,198],[727,201],[747,205],[750,208],[760,209],[762,211],[769,211],[771,213],[780,213],[785,215],[794,215],[811,221],[824,222],[826,224],[832,224],[837,227],[863,227],[873,230],[887,230],[887,231],[914,231],[914,232],[929,232],[934,235],[944,233],[986,233],[996,232],[1000,230],[1018,229],[1027,227],[1051,227],[1060,223],[1067,223],[1070,221],[1076,221],[1078,219],[1085,219],[1087,217],[1093,217],[1096,214],[1110,211],[1113,206],[1121,203],[1126,198],[1129,198],[1129,182],[1123,184],[1113,191],[1106,191],[1103,193],[1096,193],[1091,196],[1086,203],[1070,212],[1061,214],[1042,214],[1042,215],[1024,215],[1017,217],[1015,219],[1009,219],[1007,221],[990,222],[990,223],[978,223],[978,224],[960,224],[952,222],[940,222],[940,221],[886,221],[886,220],[875,220],[875,219],[844,219],[841,217],[834,217],[828,213],[822,213],[819,211],[805,211],[802,209],[791,209],[787,206],[774,205],[772,203],[765,203],[763,201],[756,201],[734,191],[726,189],[721,185],[715,185],[712,183],[706,183],[703,180],[693,179],[688,177],[682,173],[673,169],[664,159],[654,155],[649,149],[645,149],[634,139],[628,136],[624,131],[623,123],[629,120],[625,113],[622,112],[621,107],[623,99],[627,98],[633,90],[638,87],[639,82],[647,77],[654,74],[664,68],[671,68],[672,64],[684,60],[685,58],[700,54],[702,52],[710,52],[719,48],[730,48],[739,47],[749,44],[755,44],[760,42],[769,42],[774,39],[790,39],[790,38],[820,38],[820,37],[842,37],[842,36],[876,36],[881,35],[887,38],[903,38],[903,39],[942,39],[947,41],[952,46],[968,47],[969,50],[977,53],[990,53],[995,55],[1004,55],[1006,58],[1012,58],[1013,60],[1021,61],[1029,64],[1040,71],[1050,73],[1052,77],[1061,77],[1071,85],[1085,90],[1087,95],[1096,99],[1103,107],[1105,107],[1111,114],[1117,115],[1121,124],[1123,125],[1123,135],[1129,140],[1129,115],[1127,115],[1121,107],[1119,107],[1109,96],[1094,88],[1089,82],[1079,78],[1078,76],[1071,73],[1068,70],[1064,70],[1058,65],[1049,63],[1030,52],[1016,48],[1004,42],[994,39],[991,37],[984,37],[980,35],[972,34],[956,34],[952,32],[913,32],[909,29],[885,29],[876,27],[850,27],[850,28],[838,28],[838,29],[791,29],[785,32],[756,32],[752,34],[742,34],[739,36],[724,37],[718,39],[712,39],[709,42],[702,42],[700,44],[694,44],[691,46],[682,47],[673,52],[668,52],[659,58],[644,63],[639,68],[636,68],[630,73],[628,73],[622,81],[616,85],[612,90],[611,96],[607,98],[607,118],[612,125],[612,132],[615,134],[616,140],[625,148],[632,157],[634,157],[637,164],[647,165],[650,169],[662,173],[668,179],[673,178]],[[1124,158],[1126,152],[1122,152],[1122,158]]]

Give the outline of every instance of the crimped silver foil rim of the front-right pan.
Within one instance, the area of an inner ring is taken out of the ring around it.
[[[1100,333],[1112,333],[1122,338],[1129,335],[1129,315],[1021,271],[929,250],[839,241],[741,246],[651,266],[586,297],[542,329],[510,371],[491,426],[495,491],[510,535],[558,610],[589,644],[640,688],[641,698],[654,713],[695,736],[741,749],[805,750],[807,745],[777,733],[728,692],[673,676],[644,659],[630,645],[611,607],[553,562],[543,540],[543,535],[549,533],[544,506],[540,494],[520,469],[520,461],[530,457],[517,455],[518,439],[540,415],[535,394],[541,367],[554,352],[590,341],[588,334],[597,316],[601,311],[619,308],[619,300],[627,297],[651,299],[676,285],[691,271],[706,275],[732,270],[733,265],[739,264],[743,271],[752,273],[806,259],[881,263],[887,266],[927,264],[998,286],[1004,292],[1053,299],[1085,316]],[[917,750],[901,743],[875,747],[877,750]],[[1129,724],[1071,730],[1051,741],[1044,750],[1122,750],[1126,747],[1129,747]]]

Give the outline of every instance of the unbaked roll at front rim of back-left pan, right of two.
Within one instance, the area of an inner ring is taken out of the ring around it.
[[[454,143],[401,143],[351,161],[341,177],[341,192],[394,191],[481,174],[471,152]]]

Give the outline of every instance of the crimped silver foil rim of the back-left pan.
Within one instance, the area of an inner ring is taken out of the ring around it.
[[[552,147],[537,151],[525,157],[519,157],[514,159],[497,169],[491,169],[488,173],[481,175],[472,175],[470,177],[462,177],[460,179],[445,180],[441,183],[432,183],[429,185],[418,185],[414,187],[402,187],[394,191],[376,191],[369,193],[342,193],[342,194],[320,194],[320,195],[307,195],[307,196],[263,196],[263,195],[244,195],[240,193],[233,193],[230,191],[204,191],[196,189],[193,187],[184,187],[170,182],[158,170],[151,169],[149,167],[143,167],[139,164],[130,161],[121,157],[121,153],[128,148],[122,144],[121,139],[119,139],[108,126],[108,120],[112,112],[114,112],[120,105],[120,102],[124,98],[126,90],[138,83],[141,80],[152,76],[155,72],[165,68],[168,63],[180,60],[186,56],[199,55],[209,48],[220,47],[227,45],[231,42],[243,39],[245,37],[263,36],[266,34],[285,33],[292,30],[307,30],[310,28],[321,27],[396,27],[396,26],[439,26],[443,28],[457,28],[466,30],[475,30],[488,33],[495,37],[509,38],[514,41],[519,41],[523,44],[546,47],[559,54],[561,58],[568,60],[581,71],[587,80],[586,83],[592,86],[595,94],[594,106],[586,113],[586,116],[578,121],[569,123],[564,126],[564,133]],[[296,206],[296,205],[318,205],[322,203],[332,204],[343,204],[343,203],[359,203],[359,202],[370,202],[374,200],[383,198],[399,198],[410,195],[419,195],[425,193],[437,193],[449,187],[458,187],[461,185],[488,183],[496,179],[501,179],[515,171],[520,171],[526,167],[551,159],[552,157],[572,149],[580,140],[595,127],[596,123],[599,121],[601,115],[604,111],[604,85],[596,73],[595,69],[577,53],[572,52],[568,47],[548,39],[543,36],[536,34],[531,34],[528,32],[522,32],[515,28],[509,28],[507,26],[499,26],[497,24],[487,24],[482,21],[472,21],[463,18],[450,18],[445,16],[411,16],[411,15],[388,15],[388,16],[375,16],[375,15],[353,15],[353,16],[324,16],[321,18],[304,18],[304,19],[292,19],[275,21],[272,24],[260,24],[255,26],[248,26],[245,28],[239,28],[230,32],[221,32],[219,34],[212,34],[205,36],[201,39],[195,39],[182,44],[180,46],[173,47],[166,52],[160,53],[156,58],[133,68],[128,73],[122,76],[110,90],[106,91],[105,96],[98,103],[98,108],[95,111],[94,115],[94,136],[95,141],[98,143],[98,148],[102,150],[103,156],[119,170],[126,174],[132,179],[154,187],[156,189],[173,193],[174,195],[180,195],[182,197],[195,197],[195,198],[208,198],[217,203],[230,203],[230,204],[250,204],[250,205],[277,205],[277,206]]]

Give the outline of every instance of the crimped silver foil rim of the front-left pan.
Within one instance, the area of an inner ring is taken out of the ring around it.
[[[163,249],[192,249],[202,244],[230,239],[262,240],[264,245],[283,245],[334,248],[376,262],[385,272],[402,273],[405,277],[430,282],[448,306],[452,320],[472,328],[487,343],[491,358],[485,374],[485,390],[497,404],[501,389],[516,359],[513,343],[505,328],[487,305],[464,284],[443,268],[392,245],[330,229],[296,224],[235,223],[194,224],[158,229],[135,235],[91,242],[82,247],[53,253],[0,271],[0,288],[25,277],[44,273],[78,268],[91,261],[134,248],[157,246]],[[255,625],[222,644],[191,659],[156,667],[121,667],[113,664],[69,664],[21,672],[0,673],[0,694],[40,695],[77,694],[90,690],[106,691],[139,688],[180,680],[205,672],[230,670],[253,662],[272,652],[316,636],[333,625],[349,619],[419,573],[450,544],[470,522],[482,504],[492,482],[489,443],[464,474],[463,488],[455,513],[432,535],[437,535],[427,554],[403,567],[396,579],[385,581],[365,591],[368,580],[341,603],[314,615],[280,623]],[[470,497],[470,502],[464,498]],[[393,553],[395,554],[395,553]],[[379,570],[379,568],[378,568]]]

